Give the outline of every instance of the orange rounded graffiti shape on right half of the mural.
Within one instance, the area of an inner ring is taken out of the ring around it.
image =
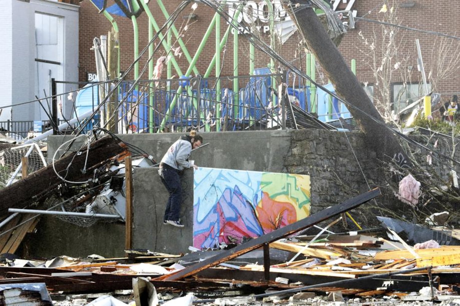
[[[262,193],[256,211],[265,234],[297,221],[297,213],[291,203],[272,200],[266,192]]]

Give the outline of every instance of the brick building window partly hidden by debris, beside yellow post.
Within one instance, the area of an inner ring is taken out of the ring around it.
[[[393,83],[391,89],[393,92],[392,109],[395,113],[398,113],[425,95],[425,86],[423,83]],[[431,84],[428,84],[428,91],[430,90]]]

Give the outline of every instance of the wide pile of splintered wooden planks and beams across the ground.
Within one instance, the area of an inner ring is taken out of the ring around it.
[[[193,290],[202,296],[225,295],[239,284],[237,294],[260,293],[253,298],[261,299],[305,291],[332,292],[334,301],[346,295],[391,295],[404,300],[439,300],[447,293],[457,297],[460,246],[415,249],[391,229],[387,230],[399,241],[358,234],[293,235],[378,194],[369,191],[229,250],[203,252],[192,263],[186,256],[155,253],[54,268],[5,266],[0,267],[0,284],[45,283],[51,294],[96,293],[132,289],[132,279],[142,276],[150,277],[157,292]],[[258,249],[263,256],[251,257],[260,254]],[[270,259],[275,252],[288,254],[289,260]],[[245,254],[250,262],[238,258]],[[265,293],[268,288],[275,292]],[[426,288],[430,295],[413,297],[413,292],[426,292]]]

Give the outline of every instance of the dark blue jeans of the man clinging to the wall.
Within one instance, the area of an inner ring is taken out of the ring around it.
[[[169,192],[164,221],[179,221],[182,194],[179,171],[168,165],[161,165],[159,173],[161,182]]]

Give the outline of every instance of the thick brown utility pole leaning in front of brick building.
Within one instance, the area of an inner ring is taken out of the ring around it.
[[[381,122],[384,121],[380,113],[329,38],[315,11],[311,8],[311,1],[291,0],[290,4],[284,6],[304,36],[309,50],[316,56],[331,83],[334,84],[336,93],[354,106],[349,107],[349,110],[362,132],[366,134],[369,149],[374,150],[377,157],[382,160],[395,159],[400,166],[407,167],[409,161],[395,134],[391,129],[382,125]]]

